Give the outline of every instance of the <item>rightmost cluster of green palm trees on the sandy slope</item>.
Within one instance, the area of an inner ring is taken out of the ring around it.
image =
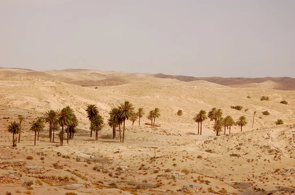
[[[194,122],[198,122],[198,135],[202,135],[202,122],[207,120],[207,117],[210,119],[210,121],[214,120],[213,125],[213,131],[216,132],[216,136],[218,136],[219,132],[222,131],[222,128],[224,127],[224,134],[226,134],[226,128],[229,128],[229,133],[231,133],[231,127],[233,125],[238,125],[241,127],[245,126],[247,124],[247,120],[245,116],[239,117],[239,119],[235,122],[233,117],[228,115],[225,118],[222,117],[222,110],[217,108],[212,108],[208,115],[206,115],[205,110],[201,110],[198,114],[196,114],[193,118]],[[199,123],[201,123],[201,131],[199,131]]]

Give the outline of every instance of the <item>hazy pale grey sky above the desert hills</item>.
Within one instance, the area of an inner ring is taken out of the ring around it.
[[[0,67],[295,77],[295,0],[0,0]]]

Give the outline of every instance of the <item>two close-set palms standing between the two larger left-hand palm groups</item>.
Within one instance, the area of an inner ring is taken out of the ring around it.
[[[86,108],[87,118],[90,121],[90,137],[92,132],[95,132],[95,140],[98,139],[98,131],[100,131],[104,125],[103,117],[98,113],[96,105],[89,104]]]

